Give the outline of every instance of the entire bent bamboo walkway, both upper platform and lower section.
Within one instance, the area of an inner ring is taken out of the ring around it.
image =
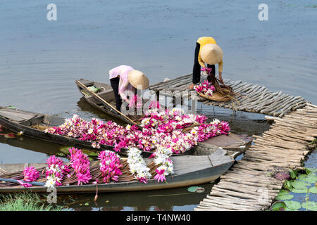
[[[317,105],[301,96],[280,91],[273,93],[266,87],[241,81],[224,80],[239,97],[240,105],[198,98],[205,105],[232,110],[273,115],[271,129],[262,136],[253,136],[254,145],[232,168],[220,176],[209,195],[194,208],[209,210],[266,210],[277,197],[284,181],[275,179],[276,172],[301,167],[305,156],[313,149],[310,142],[317,136]],[[154,91],[183,91],[191,84],[191,75],[151,85]]]

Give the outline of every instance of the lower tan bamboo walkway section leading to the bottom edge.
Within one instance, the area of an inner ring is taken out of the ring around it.
[[[268,209],[283,184],[274,174],[301,167],[313,148],[309,142],[316,136],[317,105],[307,103],[282,118],[275,117],[271,129],[263,136],[254,136],[255,145],[220,176],[219,183],[194,210]]]

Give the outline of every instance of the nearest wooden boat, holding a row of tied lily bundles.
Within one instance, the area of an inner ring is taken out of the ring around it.
[[[166,188],[180,188],[184,186],[194,186],[205,184],[215,181],[219,176],[224,174],[232,166],[234,155],[226,155],[228,152],[221,148],[210,155],[182,155],[172,156],[175,174],[166,176],[166,182],[158,183],[154,179],[149,179],[147,184],[140,183],[139,181],[125,181],[125,182],[111,182],[109,184],[98,184],[99,192],[121,192],[121,191],[147,191],[158,190]],[[145,159],[149,163],[150,159]],[[91,165],[99,164],[99,161],[94,161]],[[46,166],[44,163],[33,164],[3,164],[0,165],[0,177],[3,179],[8,178],[5,174],[23,172],[26,166],[34,166],[35,168],[43,168]],[[1,181],[0,181],[1,182]],[[6,186],[4,186],[6,185]],[[56,187],[58,194],[60,193],[95,193],[96,184],[84,185],[62,185]],[[11,182],[0,183],[0,193],[13,193],[13,192],[37,192],[46,193],[45,186],[31,186],[24,188],[19,184]]]

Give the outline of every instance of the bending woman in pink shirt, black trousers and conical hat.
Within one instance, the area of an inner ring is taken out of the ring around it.
[[[127,96],[136,94],[136,89],[144,90],[149,86],[149,79],[143,72],[135,70],[129,65],[119,65],[109,70],[109,79],[118,111],[121,111],[122,99],[129,103]]]

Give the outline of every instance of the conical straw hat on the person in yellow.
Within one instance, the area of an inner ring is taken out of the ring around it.
[[[223,60],[223,50],[216,44],[206,44],[200,51],[204,63],[215,65]]]

